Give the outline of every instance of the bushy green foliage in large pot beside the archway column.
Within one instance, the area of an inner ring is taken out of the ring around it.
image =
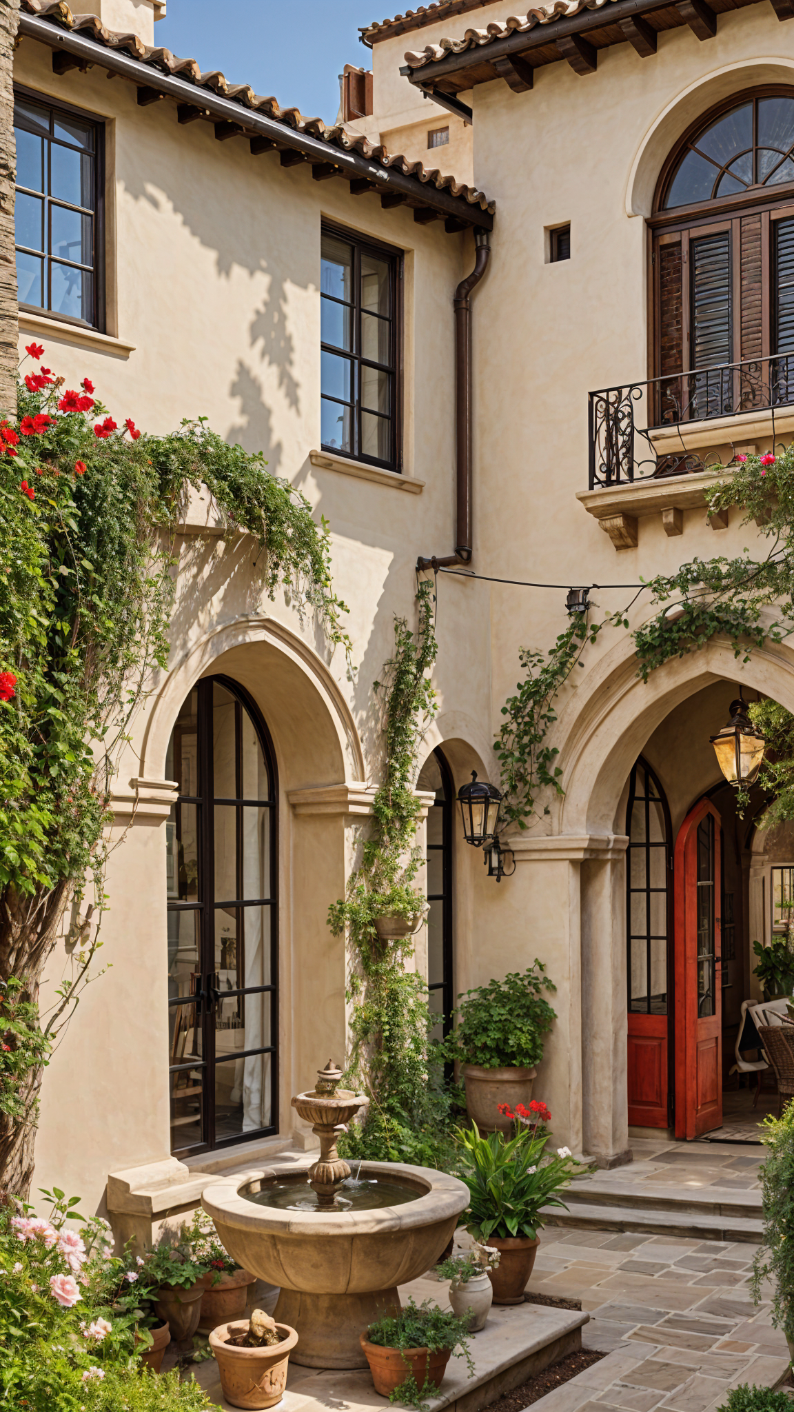
[[[557,1019],[544,990],[555,991],[557,987],[535,957],[523,976],[511,971],[504,980],[492,980],[459,995],[458,1025],[441,1046],[445,1058],[480,1069],[531,1069],[540,1063],[541,1036]]]

